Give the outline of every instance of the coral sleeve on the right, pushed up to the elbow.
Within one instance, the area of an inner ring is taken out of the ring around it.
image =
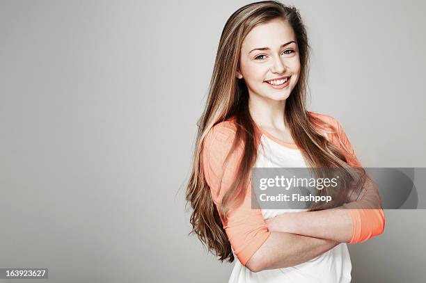
[[[336,129],[336,135],[333,136],[334,143],[342,149],[347,163],[362,167],[356,158],[349,138],[347,138],[340,123],[334,118],[333,127]],[[384,232],[386,220],[384,211],[381,209],[379,190],[370,179],[365,181],[364,187],[365,193],[362,195],[361,200],[349,202],[342,206],[349,211],[352,218],[352,238],[348,243],[362,243]]]

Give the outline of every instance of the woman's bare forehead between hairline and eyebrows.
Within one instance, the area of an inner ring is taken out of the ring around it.
[[[273,19],[265,24],[255,26],[244,38],[242,50],[250,51],[259,47],[272,49],[291,40],[296,41],[292,26],[283,19]]]

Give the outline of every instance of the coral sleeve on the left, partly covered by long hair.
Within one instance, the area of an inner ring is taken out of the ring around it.
[[[203,172],[210,186],[208,193],[211,193],[218,211],[223,195],[238,177],[235,173],[244,150],[244,146],[239,145],[226,160],[235,133],[236,127],[232,122],[220,122],[212,127],[203,143]],[[222,220],[232,250],[243,266],[271,234],[261,210],[251,209],[251,178],[247,183],[242,204],[231,208],[226,221]]]

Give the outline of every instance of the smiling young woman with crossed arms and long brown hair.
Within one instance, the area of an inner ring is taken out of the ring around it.
[[[347,243],[384,231],[377,188],[349,173],[362,167],[342,127],[306,110],[308,56],[299,12],[276,1],[223,28],[187,200],[191,232],[221,261],[237,257],[229,282],[350,282]],[[363,194],[336,209],[251,209],[253,167],[336,167]]]

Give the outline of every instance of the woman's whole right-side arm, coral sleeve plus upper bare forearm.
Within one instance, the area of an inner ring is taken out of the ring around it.
[[[332,143],[342,149],[349,164],[361,167],[341,125],[334,118],[331,118],[330,122],[336,128],[336,135],[331,139]],[[383,233],[385,226],[377,186],[367,179],[364,188],[365,193],[361,200],[349,202],[336,209],[285,213],[267,220],[267,226],[269,230],[275,232],[289,232],[346,243],[362,243]]]

